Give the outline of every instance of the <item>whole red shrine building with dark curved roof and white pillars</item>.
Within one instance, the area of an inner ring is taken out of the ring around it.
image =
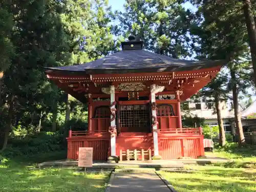
[[[203,156],[201,127],[182,127],[180,103],[224,62],[152,53],[133,36],[121,45],[122,51],[95,61],[46,69],[60,89],[88,104],[88,130],[69,131],[67,158],[78,159],[79,147],[93,147],[93,160],[130,159],[120,154],[129,151],[150,152],[153,159]],[[146,159],[141,153],[136,158]]]

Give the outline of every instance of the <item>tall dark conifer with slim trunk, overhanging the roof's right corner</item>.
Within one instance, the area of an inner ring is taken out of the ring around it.
[[[232,91],[233,106],[238,103],[239,93],[245,93],[251,82],[248,58],[247,34],[243,25],[243,13],[233,4],[220,6],[216,1],[194,1],[198,3],[198,24],[193,32],[200,37],[198,55],[210,59],[226,59],[231,77],[228,86]],[[234,10],[235,8],[235,10]],[[238,9],[238,10],[237,10]],[[237,12],[236,12],[237,11]],[[238,65],[240,63],[240,65]],[[245,71],[244,71],[245,70]],[[233,75],[235,74],[235,75]],[[237,90],[234,90],[237,89]],[[239,143],[243,144],[243,130],[238,108],[234,108]]]

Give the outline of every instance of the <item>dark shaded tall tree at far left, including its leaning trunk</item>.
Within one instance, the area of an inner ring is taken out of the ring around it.
[[[10,40],[16,55],[3,79],[3,100],[9,105],[9,111],[5,129],[1,130],[6,136],[1,139],[2,150],[6,147],[15,112],[41,99],[43,93],[39,88],[46,82],[42,67],[57,66],[61,62],[65,43],[60,22],[61,2],[13,1],[6,8],[14,18]]]

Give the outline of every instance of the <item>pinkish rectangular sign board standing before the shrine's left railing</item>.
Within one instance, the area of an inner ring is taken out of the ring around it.
[[[79,147],[78,166],[79,167],[93,166],[93,147]]]

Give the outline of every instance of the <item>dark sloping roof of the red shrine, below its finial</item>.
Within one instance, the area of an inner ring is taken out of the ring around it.
[[[142,49],[123,50],[82,65],[49,67],[48,72],[62,71],[83,74],[190,71],[225,65],[223,60],[183,60]]]

